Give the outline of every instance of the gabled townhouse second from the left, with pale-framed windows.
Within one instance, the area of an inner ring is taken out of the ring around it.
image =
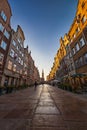
[[[2,86],[6,82],[7,85],[17,86],[22,85],[24,82],[24,40],[25,36],[19,25],[16,32],[12,29],[11,43],[4,68]]]

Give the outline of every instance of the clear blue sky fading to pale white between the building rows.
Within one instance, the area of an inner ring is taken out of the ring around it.
[[[20,25],[24,46],[29,46],[40,75],[45,78],[53,66],[60,46],[59,39],[69,31],[73,22],[77,0],[8,0],[11,10],[11,26]]]

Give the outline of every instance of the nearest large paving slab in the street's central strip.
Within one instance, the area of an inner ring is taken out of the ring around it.
[[[33,126],[66,127],[66,124],[60,115],[36,114],[33,119]]]

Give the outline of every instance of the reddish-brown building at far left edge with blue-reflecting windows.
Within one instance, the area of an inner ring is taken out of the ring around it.
[[[0,0],[0,85],[2,85],[4,68],[11,42],[12,12],[7,0]]]

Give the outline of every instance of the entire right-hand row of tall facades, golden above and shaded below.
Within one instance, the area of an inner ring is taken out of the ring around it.
[[[74,20],[68,33],[60,38],[60,47],[47,78],[87,74],[87,0],[78,0]],[[59,65],[58,65],[59,64]],[[55,69],[55,66],[57,66]]]

